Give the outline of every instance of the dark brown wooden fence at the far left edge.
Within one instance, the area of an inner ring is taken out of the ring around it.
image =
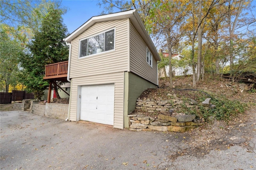
[[[18,90],[13,90],[12,93],[0,92],[0,104],[12,103],[12,101],[22,101],[24,99],[34,99],[34,94]]]

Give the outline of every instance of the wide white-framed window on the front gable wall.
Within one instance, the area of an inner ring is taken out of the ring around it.
[[[114,49],[114,34],[115,31],[113,29],[97,36],[80,40],[79,57]]]

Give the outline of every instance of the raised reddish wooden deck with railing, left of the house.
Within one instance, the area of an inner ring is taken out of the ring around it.
[[[45,65],[44,79],[67,82],[68,61]]]

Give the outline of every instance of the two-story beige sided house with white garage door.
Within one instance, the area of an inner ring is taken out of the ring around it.
[[[92,17],[65,41],[71,82],[67,119],[128,128],[136,99],[158,85],[160,57],[138,12]]]

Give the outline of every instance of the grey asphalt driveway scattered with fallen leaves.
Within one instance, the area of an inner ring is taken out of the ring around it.
[[[198,158],[175,156],[190,147],[182,133],[133,132],[22,111],[1,112],[0,128],[3,170],[256,168],[255,136],[251,152],[234,145]]]

